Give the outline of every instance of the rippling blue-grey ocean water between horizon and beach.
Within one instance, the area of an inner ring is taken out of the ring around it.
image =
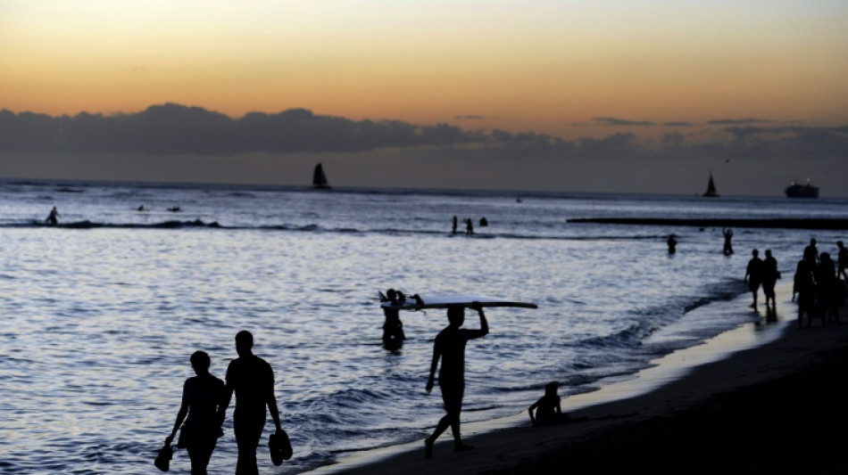
[[[786,281],[811,238],[834,253],[848,237],[736,228],[726,257],[720,229],[569,223],[844,219],[844,200],[13,181],[0,192],[0,473],[9,474],[154,472],[193,375],[188,356],[207,351],[223,377],[243,329],[275,370],[295,447],[274,467],[261,445],[263,474],[422,439],[443,414],[424,385],[446,319],[404,313],[408,340],[383,348],[378,291],[388,288],[536,302],[488,309],[491,333],[467,349],[463,422],[518,414],[548,381],[560,381],[562,397],[594,390],[762,318],[748,308],[692,317],[745,292],[753,248],[771,249]],[[53,206],[60,224],[45,225]],[[450,233],[454,215],[472,218],[475,233]],[[466,325],[477,324],[470,314]],[[229,418],[225,432],[212,474],[235,467]],[[184,451],[172,471],[188,472]]]

